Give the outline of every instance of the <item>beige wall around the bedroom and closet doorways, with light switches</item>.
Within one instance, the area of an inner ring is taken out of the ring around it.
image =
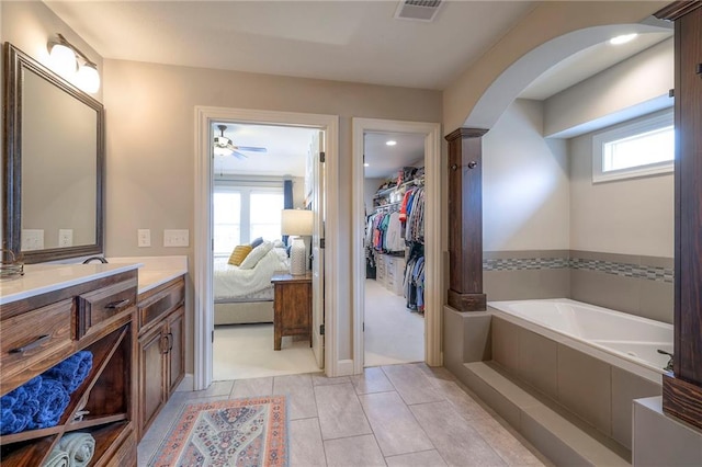
[[[188,254],[162,248],[166,228],[194,231],[194,107],[257,109],[339,115],[339,186],[342,264],[351,264],[351,117],[440,122],[441,93],[301,78],[105,60],[107,114],[106,253]],[[150,228],[154,247],[138,249],[136,230]],[[346,255],[346,258],[343,258]],[[351,274],[342,271],[337,310],[340,358],[351,357]],[[192,309],[192,307],[191,307]],[[188,323],[192,329],[192,316]],[[188,369],[192,369],[192,335]]]

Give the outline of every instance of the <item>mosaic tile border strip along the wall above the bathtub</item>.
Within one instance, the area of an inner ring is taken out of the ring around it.
[[[675,274],[671,269],[616,263],[613,261],[586,260],[582,258],[510,258],[483,261],[483,271],[535,271],[566,267],[573,270],[602,272],[622,277],[666,282],[670,284],[672,284],[675,278]]]

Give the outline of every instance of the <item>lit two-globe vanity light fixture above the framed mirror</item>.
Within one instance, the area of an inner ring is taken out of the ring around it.
[[[58,33],[57,37],[58,42],[48,43],[49,62],[54,71],[86,92],[98,92],[100,89],[98,65],[69,43],[63,34]]]

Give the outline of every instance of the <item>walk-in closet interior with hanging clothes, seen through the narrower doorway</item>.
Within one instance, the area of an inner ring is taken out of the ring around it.
[[[366,134],[364,365],[424,361],[423,135]]]

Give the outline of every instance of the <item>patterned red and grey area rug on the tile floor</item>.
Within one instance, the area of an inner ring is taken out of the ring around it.
[[[285,396],[185,405],[155,467],[287,466]]]

